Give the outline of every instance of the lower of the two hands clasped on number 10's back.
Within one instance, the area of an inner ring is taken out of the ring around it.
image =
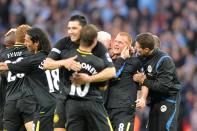
[[[70,80],[78,85],[86,84],[91,82],[91,76],[85,73],[74,73]]]

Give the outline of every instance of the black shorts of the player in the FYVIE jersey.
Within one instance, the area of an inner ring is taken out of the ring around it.
[[[4,106],[4,123],[6,131],[19,131],[24,123],[33,121],[37,108],[36,99],[33,96],[6,101]]]

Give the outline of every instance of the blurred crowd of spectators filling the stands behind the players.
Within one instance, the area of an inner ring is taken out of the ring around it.
[[[112,36],[151,32],[174,59],[182,82],[180,130],[197,131],[196,0],[0,0],[0,43],[5,32],[27,23],[46,30],[53,44],[66,35],[66,20],[84,14]]]

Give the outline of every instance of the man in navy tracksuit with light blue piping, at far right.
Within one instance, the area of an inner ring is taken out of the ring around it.
[[[135,48],[144,64],[145,74],[137,73],[133,79],[149,89],[149,131],[177,131],[181,85],[172,58],[154,48],[151,33],[139,34]]]

